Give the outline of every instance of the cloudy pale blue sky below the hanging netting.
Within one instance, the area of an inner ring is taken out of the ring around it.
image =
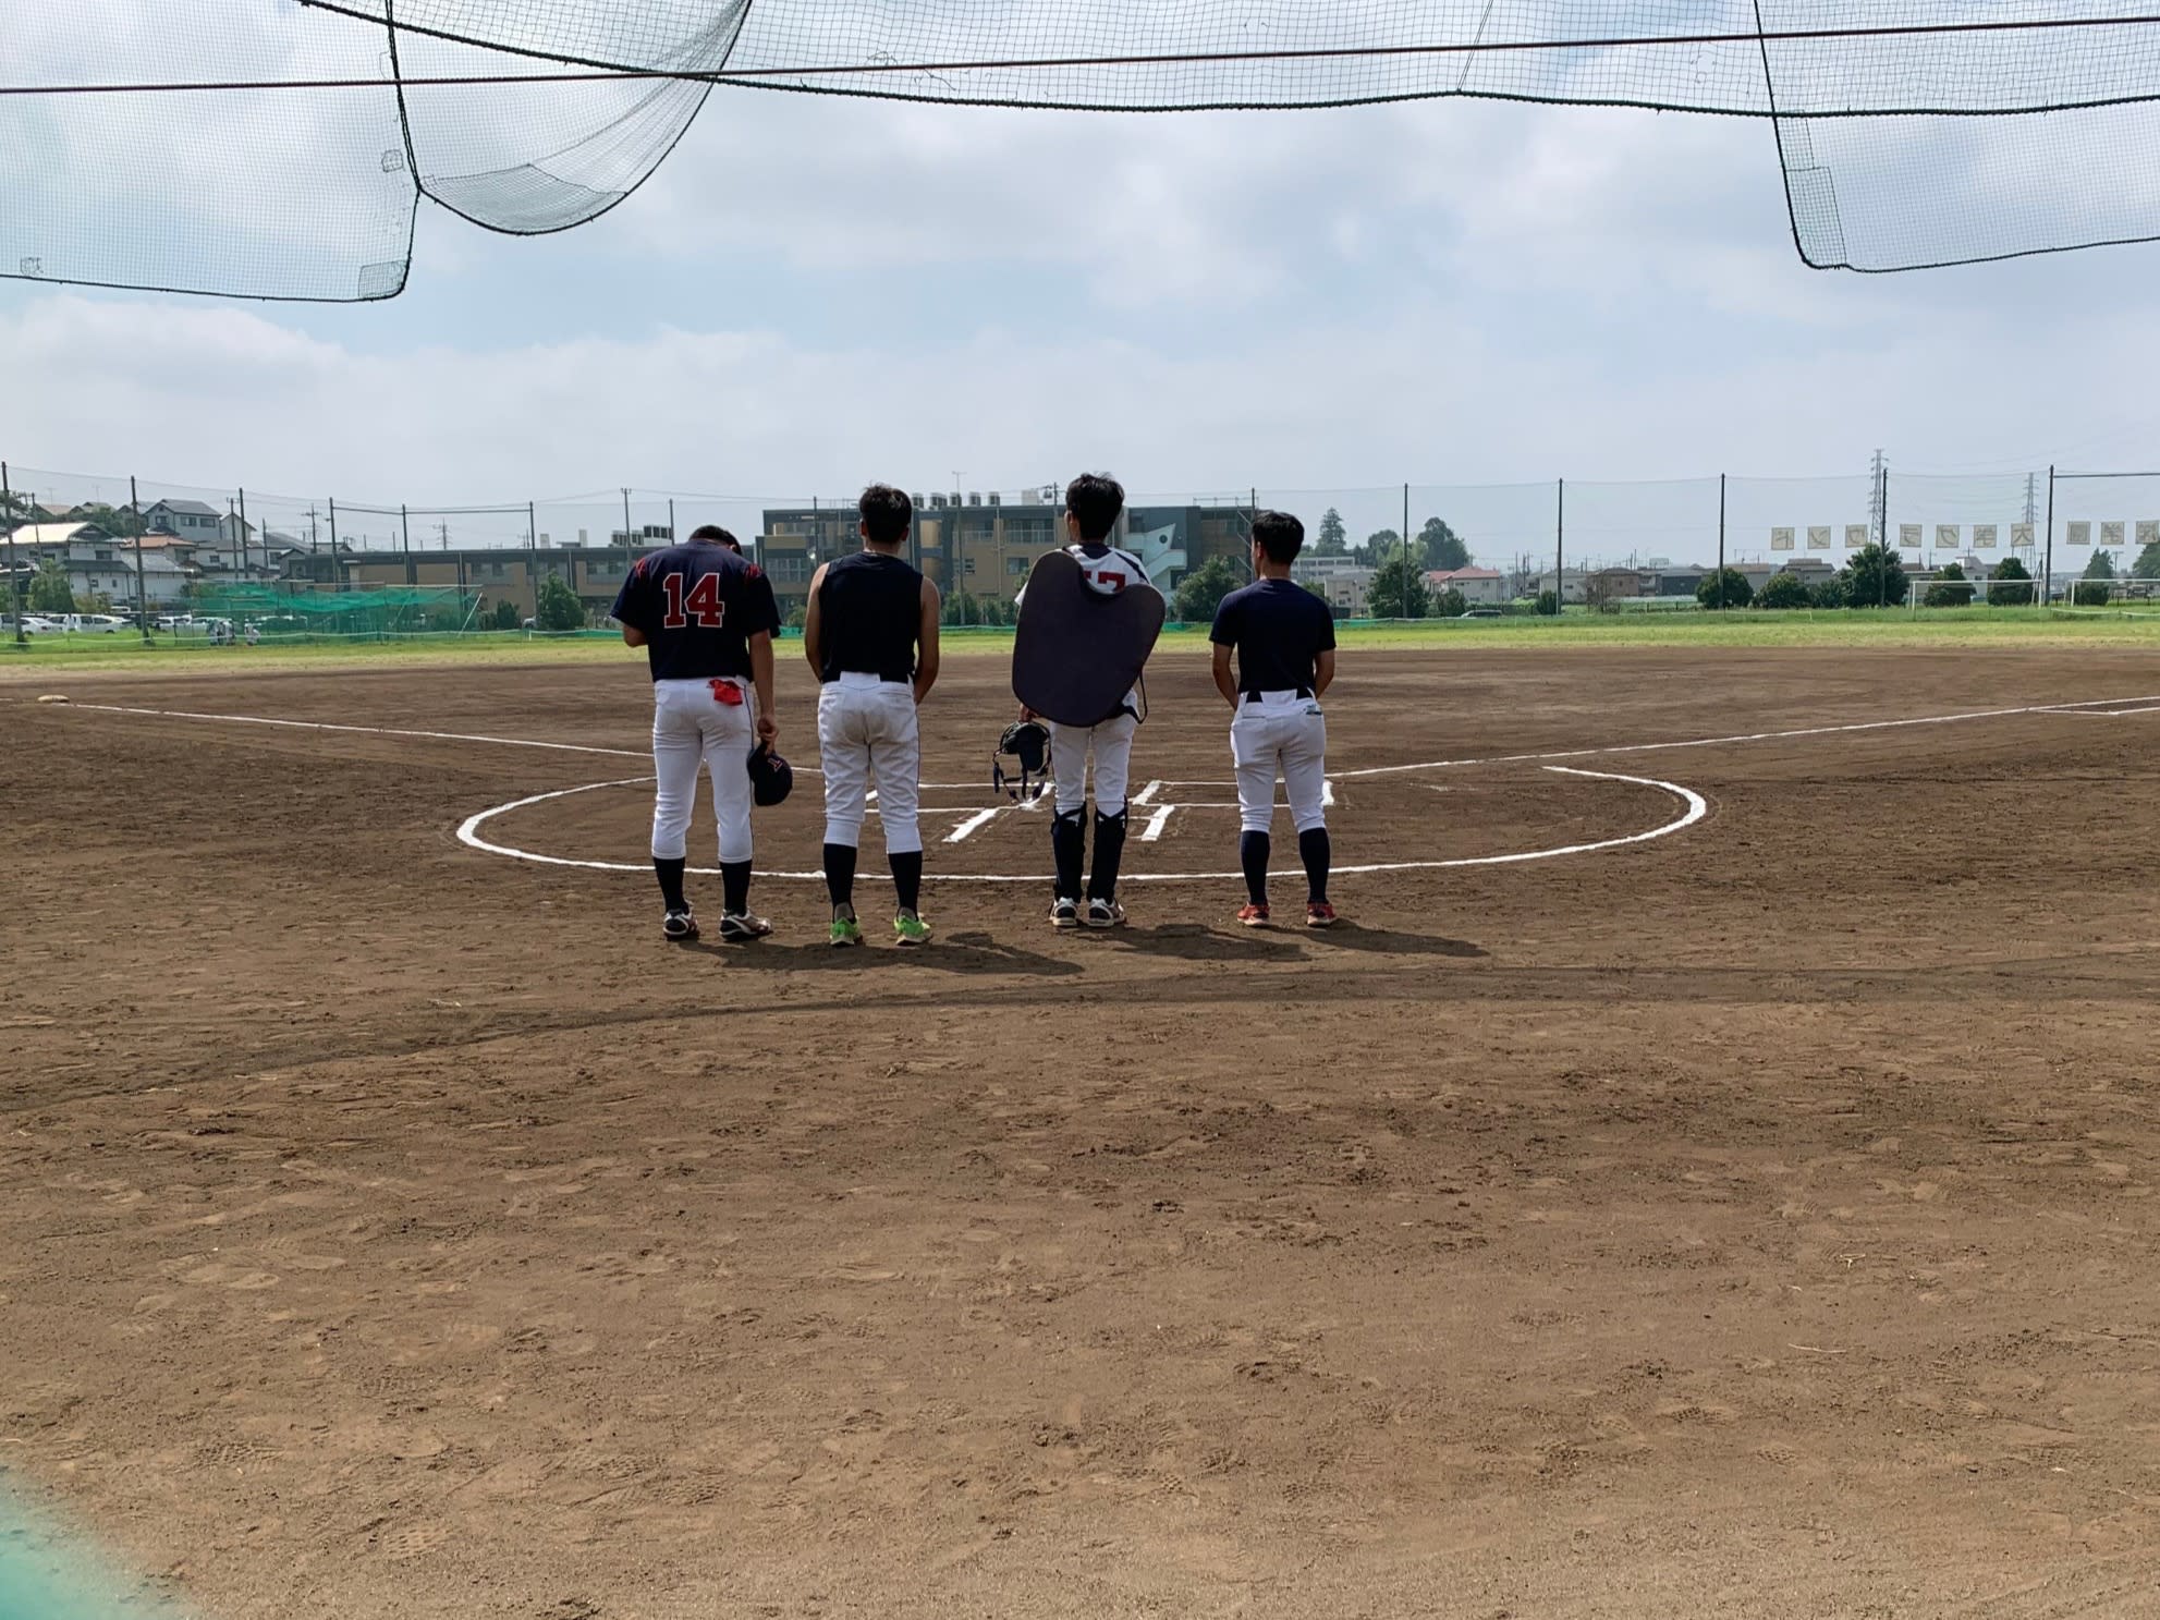
[[[0,281],[0,456],[387,503],[2154,464],[2154,287],[1808,270],[1760,121],[721,91],[579,231],[423,205],[393,302]]]

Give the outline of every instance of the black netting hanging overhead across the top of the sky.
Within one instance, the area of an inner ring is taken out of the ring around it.
[[[1778,132],[1817,266],[2160,235],[2125,0],[156,0],[0,17],[0,274],[382,298],[430,197],[559,231],[715,86],[1097,110],[1501,97]]]

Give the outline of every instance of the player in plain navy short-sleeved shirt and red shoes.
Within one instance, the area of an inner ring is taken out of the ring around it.
[[[1214,678],[1231,706],[1229,754],[1238,767],[1238,860],[1244,866],[1246,905],[1238,920],[1268,927],[1268,825],[1274,821],[1274,780],[1290,797],[1305,862],[1305,927],[1335,927],[1328,905],[1328,816],[1324,806],[1328,721],[1320,698],[1335,680],[1335,616],[1305,585],[1290,579],[1290,564],[1305,549],[1305,525],[1287,512],[1253,516],[1253,572],[1216,609]],[[1236,672],[1231,654],[1238,657]]]

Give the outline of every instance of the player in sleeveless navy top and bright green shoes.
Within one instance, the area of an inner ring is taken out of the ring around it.
[[[825,767],[825,892],[836,946],[860,946],[855,851],[870,786],[899,890],[892,937],[929,944],[922,920],[922,737],[916,708],[937,683],[937,588],[903,557],[914,501],[873,484],[858,505],[862,551],[810,579],[804,654],[816,670],[816,743]]]

